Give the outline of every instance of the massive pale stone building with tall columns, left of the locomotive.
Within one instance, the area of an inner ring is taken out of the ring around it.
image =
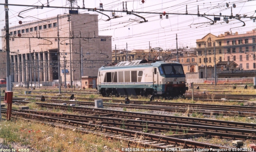
[[[68,15],[70,15],[71,21],[68,20]],[[98,69],[105,65],[104,60],[111,60],[108,56],[111,56],[112,53],[112,36],[100,36],[97,21],[97,14],[59,15],[60,76],[62,82],[64,82],[64,60],[66,62],[67,83],[70,82],[71,72],[73,81],[80,81],[80,67],[83,68],[82,76],[97,76]],[[14,77],[14,82],[25,82],[29,79],[29,62],[32,62],[33,82],[34,80],[38,81],[38,72],[40,81],[59,80],[57,26],[57,17],[52,17],[9,28],[11,36],[10,61],[14,67],[11,69],[11,74]],[[72,37],[70,43],[69,30]],[[4,36],[5,30],[2,29],[1,33]],[[18,34],[21,34],[21,37]],[[71,51],[69,49],[70,44]],[[4,38],[2,38],[2,46],[5,49]],[[29,53],[31,53],[31,57]],[[72,61],[71,67],[70,61]],[[80,61],[83,63],[81,64]]]

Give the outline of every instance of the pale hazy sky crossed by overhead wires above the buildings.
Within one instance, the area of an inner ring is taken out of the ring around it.
[[[50,6],[64,6],[69,7],[66,0],[48,0]],[[84,0],[85,8],[100,8],[100,3],[103,4],[104,10],[112,10],[115,16],[119,18],[113,18],[110,21],[107,16],[104,16],[98,12],[79,10],[79,13],[99,14],[99,35],[112,36],[112,50],[126,48],[128,50],[133,49],[148,49],[150,46],[161,47],[164,50],[176,49],[176,34],[178,35],[178,47],[196,47],[196,40],[202,39],[206,34],[212,33],[213,35],[224,34],[224,32],[232,31],[232,33],[238,32],[238,34],[252,31],[256,28],[256,22],[253,22],[250,18],[241,18],[244,21],[245,26],[241,21],[236,19],[229,19],[227,24],[223,21],[223,17],[220,21],[217,21],[214,25],[211,20],[198,17],[197,15],[169,15],[160,18],[159,14],[150,14],[147,12],[163,13],[186,13],[186,7],[188,14],[197,14],[197,8],[199,8],[200,14],[210,15],[231,15],[231,6],[233,16],[239,14],[240,16],[256,16],[256,0],[144,0],[144,4],[141,0],[127,0],[127,10],[133,11],[135,14],[144,17],[148,22],[139,23],[143,21],[135,15],[127,15],[125,12],[115,12],[115,10],[123,10],[123,1],[120,0]],[[1,4],[4,4],[4,0],[0,0]],[[26,4],[26,5],[47,5],[47,0],[9,0],[9,4]],[[229,7],[226,4],[229,4]],[[83,7],[83,0],[77,0],[77,5],[80,8]],[[0,28],[5,26],[5,11],[4,5],[0,5]],[[59,8],[46,8],[44,9],[32,9],[22,12],[23,17],[19,18],[20,11],[29,9],[31,7],[24,6],[9,6],[9,27],[18,25],[19,21],[28,23],[39,19],[51,18],[57,16],[57,14],[67,13],[67,9]],[[125,8],[125,3],[124,3]],[[112,16],[112,12],[102,11],[106,15]],[[213,16],[206,16],[213,20]],[[232,28],[232,29],[230,29]],[[2,43],[0,44],[2,49]]]

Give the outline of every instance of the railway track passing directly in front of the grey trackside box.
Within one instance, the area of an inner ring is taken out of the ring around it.
[[[214,120],[214,119],[157,115],[157,114],[150,114],[150,113],[126,112],[126,111],[116,111],[116,110],[108,110],[108,109],[101,109],[101,108],[87,108],[87,107],[55,105],[55,104],[41,104],[41,106],[45,108],[50,108],[50,109],[54,108],[54,109],[61,109],[66,111],[78,111],[78,112],[83,112],[87,115],[88,114],[89,115],[111,114],[112,117],[124,118],[124,119],[140,118],[141,120],[145,120],[145,121],[156,121],[156,122],[166,122],[166,123],[182,123],[185,121],[187,123],[191,123],[191,122],[204,123],[207,125],[221,125],[221,126],[228,126],[228,127],[243,127],[243,128],[252,128],[252,129],[256,128],[256,124],[252,124],[252,123],[241,123],[241,122]],[[23,110],[23,112],[29,112],[29,111]]]

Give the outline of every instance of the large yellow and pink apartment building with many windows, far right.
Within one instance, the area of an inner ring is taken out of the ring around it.
[[[230,31],[215,36],[209,33],[202,39],[196,40],[196,52],[199,58],[198,66],[204,67],[205,62],[206,67],[214,66],[215,44],[216,63],[234,61],[238,67],[235,69],[228,69],[234,71],[255,69],[255,38],[256,29],[244,34],[238,34],[238,32],[232,33],[232,31]],[[217,69],[217,73],[218,71],[223,71],[223,69],[219,68]],[[200,78],[202,77],[200,76]]]

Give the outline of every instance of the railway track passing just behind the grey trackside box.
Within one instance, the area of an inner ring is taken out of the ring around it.
[[[46,97],[47,98],[47,97]],[[14,100],[17,99],[17,100]],[[31,100],[39,100],[36,98],[29,98]],[[13,100],[17,103],[29,103],[25,100],[25,98],[16,98]],[[95,100],[95,98],[83,98],[83,100]],[[80,105],[94,105],[94,102],[86,102],[86,101],[70,101],[70,100],[57,100],[57,99],[47,99],[49,102],[55,103],[68,103],[68,104],[80,104]],[[109,102],[109,100],[104,99],[105,102]],[[245,107],[245,106],[232,106],[232,105],[208,105],[208,104],[191,104],[191,103],[170,103],[170,102],[154,102],[154,101],[137,101],[132,100],[130,103],[132,104],[119,104],[119,102],[124,102],[122,100],[114,100],[116,103],[104,103],[107,106],[116,106],[116,107],[126,107],[133,109],[147,109],[147,110],[158,110],[158,111],[167,111],[167,112],[188,112],[188,113],[203,113],[207,115],[229,115],[229,116],[255,116],[256,115],[256,107]],[[111,101],[113,102],[113,100]],[[37,105],[43,105],[43,103],[36,103]],[[145,105],[147,104],[147,105]]]

